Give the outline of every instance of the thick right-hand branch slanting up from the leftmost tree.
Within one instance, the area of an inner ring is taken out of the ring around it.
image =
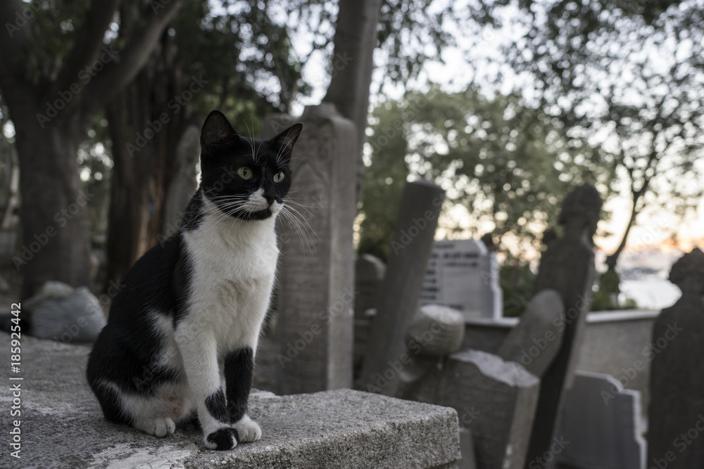
[[[143,17],[151,19],[142,29],[130,37],[127,46],[117,53],[118,60],[108,63],[89,84],[84,94],[84,105],[89,108],[89,114],[99,111],[115,93],[124,88],[137,76],[151,56],[165,27],[174,17],[181,2],[172,0],[168,4],[154,4],[163,9],[156,13],[151,4]]]

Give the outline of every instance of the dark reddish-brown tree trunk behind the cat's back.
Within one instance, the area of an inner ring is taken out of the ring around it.
[[[168,236],[165,224],[174,222],[165,220],[165,203],[180,169],[175,153],[191,114],[187,105],[178,112],[173,107],[180,81],[164,34],[144,70],[108,105],[113,142],[108,285],[119,283],[146,250]]]

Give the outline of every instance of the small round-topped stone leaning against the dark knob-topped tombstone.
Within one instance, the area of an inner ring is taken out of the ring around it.
[[[562,345],[560,327],[565,323],[565,307],[555,290],[542,290],[532,297],[520,322],[501,343],[498,356],[515,361],[538,378],[545,374]]]

